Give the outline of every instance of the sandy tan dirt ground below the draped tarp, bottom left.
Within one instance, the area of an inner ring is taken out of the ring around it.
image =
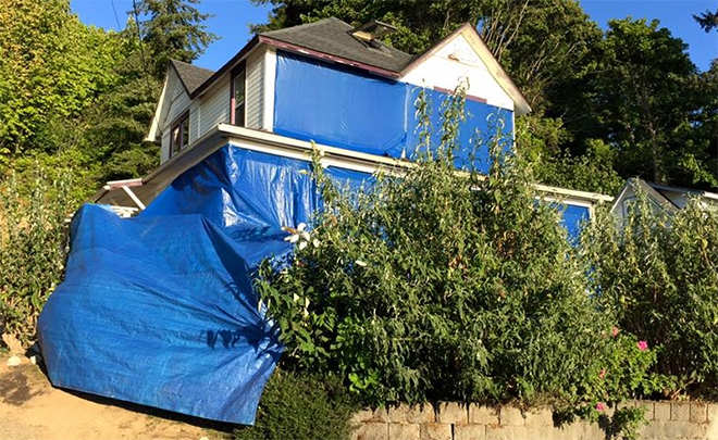
[[[23,357],[7,365],[0,355],[0,439],[2,440],[216,440],[211,424],[171,418],[172,413],[52,388],[40,368]],[[169,417],[169,418],[168,418]],[[226,429],[226,427],[223,427]]]

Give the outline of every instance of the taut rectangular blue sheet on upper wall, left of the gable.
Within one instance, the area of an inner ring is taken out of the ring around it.
[[[409,85],[277,52],[274,133],[370,154],[407,142]]]

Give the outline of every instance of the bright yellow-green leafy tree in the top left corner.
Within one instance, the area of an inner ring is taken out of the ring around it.
[[[67,0],[0,0],[0,155],[57,152],[55,128],[114,84],[113,62],[109,36]]]

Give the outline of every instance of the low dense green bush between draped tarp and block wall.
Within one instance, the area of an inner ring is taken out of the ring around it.
[[[264,388],[257,423],[234,432],[236,440],[344,440],[359,407],[339,380],[276,369]]]

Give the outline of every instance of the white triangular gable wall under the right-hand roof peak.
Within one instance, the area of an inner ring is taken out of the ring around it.
[[[457,35],[400,78],[414,86],[448,90],[454,90],[463,79],[469,81],[467,95],[483,98],[491,105],[515,110],[513,100],[494,79],[486,64],[462,35]]]

